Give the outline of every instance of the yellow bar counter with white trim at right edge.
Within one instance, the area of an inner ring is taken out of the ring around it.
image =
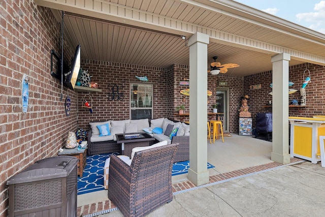
[[[317,164],[320,161],[319,136],[325,136],[325,116],[289,117],[290,157]]]

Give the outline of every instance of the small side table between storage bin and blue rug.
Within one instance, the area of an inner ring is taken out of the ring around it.
[[[77,164],[77,175],[79,175],[80,178],[82,177],[83,169],[86,166],[86,148],[87,144],[83,146],[80,150],[78,150],[78,147],[71,149],[63,148],[63,151],[58,153],[59,156],[72,156],[79,159]]]

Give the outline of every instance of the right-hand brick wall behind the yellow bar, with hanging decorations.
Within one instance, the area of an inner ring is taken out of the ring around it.
[[[294,85],[290,87],[288,86],[288,88],[297,89],[298,91],[289,95],[288,105],[294,99],[300,102],[301,97],[299,88],[301,88],[304,78],[309,76],[309,73],[307,72],[304,76],[306,68],[310,71],[311,77],[311,82],[306,86],[307,107],[289,107],[289,116],[312,117],[313,115],[323,115],[325,111],[325,97],[323,95],[325,90],[325,68],[313,64],[301,64],[289,67],[289,81],[294,82]],[[250,97],[248,105],[253,118],[253,127],[255,127],[255,117],[257,113],[272,113],[272,108],[263,107],[269,102],[269,100],[272,101],[272,95],[269,94],[269,92],[272,91],[270,83],[272,83],[272,71],[244,77],[243,95],[247,94]],[[250,85],[256,84],[261,84],[262,89],[251,90]]]

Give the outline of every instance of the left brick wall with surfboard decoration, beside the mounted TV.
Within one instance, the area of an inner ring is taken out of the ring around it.
[[[68,131],[76,129],[76,105],[66,116],[69,93],[50,75],[51,49],[60,50],[60,23],[34,1],[3,1],[0,5],[0,216],[7,216],[7,180],[35,161],[56,156]],[[64,46],[72,56],[74,50]],[[27,113],[21,108],[21,81],[29,78]]]

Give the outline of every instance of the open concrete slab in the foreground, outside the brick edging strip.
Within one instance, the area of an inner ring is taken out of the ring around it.
[[[174,195],[147,216],[324,216],[324,181],[320,164],[304,162]]]

